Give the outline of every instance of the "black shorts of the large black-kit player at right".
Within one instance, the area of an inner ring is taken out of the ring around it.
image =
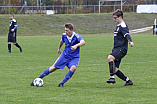
[[[126,49],[112,49],[112,53],[110,55],[115,57],[115,66],[119,68],[121,59],[127,54]]]

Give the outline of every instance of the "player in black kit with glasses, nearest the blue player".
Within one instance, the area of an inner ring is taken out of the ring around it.
[[[134,46],[134,43],[129,34],[129,28],[123,21],[123,12],[117,9],[113,12],[113,19],[118,25],[114,31],[114,47],[112,53],[108,56],[110,79],[106,82],[116,83],[114,76],[116,74],[120,79],[126,81],[123,86],[133,85],[133,82],[119,70],[119,66],[121,59],[127,54],[128,42],[131,47]]]

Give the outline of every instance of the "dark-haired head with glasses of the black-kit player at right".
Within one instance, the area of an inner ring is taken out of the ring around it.
[[[123,20],[123,11],[117,9],[113,12],[113,19],[115,22],[120,23]]]

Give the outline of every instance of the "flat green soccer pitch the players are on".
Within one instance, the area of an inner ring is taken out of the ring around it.
[[[107,57],[113,47],[113,36],[83,36],[79,67],[74,76],[57,87],[68,72],[58,70],[45,77],[43,87],[31,87],[31,81],[51,66],[57,57],[61,37],[18,37],[23,52],[12,45],[6,53],[7,38],[0,42],[0,104],[156,104],[157,37],[133,35],[135,46],[123,58],[122,70],[133,86],[116,77],[107,84]],[[64,47],[62,47],[63,50]]]

